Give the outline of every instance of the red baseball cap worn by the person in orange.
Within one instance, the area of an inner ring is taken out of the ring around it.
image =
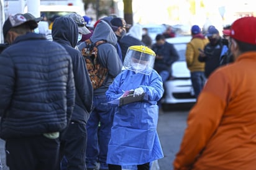
[[[242,17],[231,25],[230,37],[256,45],[256,17]]]

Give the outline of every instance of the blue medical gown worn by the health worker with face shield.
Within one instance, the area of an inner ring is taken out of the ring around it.
[[[144,89],[149,101],[117,108],[107,151],[108,164],[135,165],[163,158],[157,135],[157,101],[163,96],[163,83],[158,73],[155,70],[150,75],[122,71],[106,91],[107,100],[117,99],[123,91],[137,87]]]

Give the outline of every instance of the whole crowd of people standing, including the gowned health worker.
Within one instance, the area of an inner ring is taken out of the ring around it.
[[[168,28],[152,44],[147,29],[121,17],[93,27],[85,20],[70,13],[45,27],[43,17],[26,13],[4,22],[0,137],[10,170],[142,170],[163,158],[158,101],[179,58],[165,41],[175,35]],[[206,35],[191,27],[186,63],[198,101],[175,169],[254,167],[255,25],[255,17],[238,19],[223,38],[213,25]],[[130,95],[143,99],[112,102]]]

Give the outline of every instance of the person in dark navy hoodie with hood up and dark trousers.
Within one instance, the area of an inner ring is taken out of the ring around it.
[[[65,156],[67,169],[86,169],[86,123],[93,109],[93,87],[80,51],[74,47],[78,42],[78,25],[70,17],[58,17],[52,26],[53,41],[60,43],[71,56],[75,79],[75,108],[71,122],[63,132],[60,143],[60,158]]]

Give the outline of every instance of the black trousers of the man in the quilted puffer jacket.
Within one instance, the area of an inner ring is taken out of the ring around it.
[[[56,170],[60,141],[43,135],[6,140],[6,164],[10,170]]]

